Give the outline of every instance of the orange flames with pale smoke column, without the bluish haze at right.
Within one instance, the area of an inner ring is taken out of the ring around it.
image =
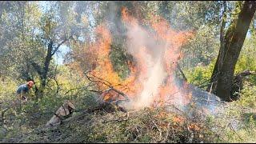
[[[189,32],[173,30],[165,19],[154,16],[150,29],[143,28],[138,20],[122,8],[122,21],[127,28],[127,52],[136,63],[128,62],[130,77],[122,80],[110,62],[111,34],[106,26],[98,26],[100,36],[91,46],[97,55],[96,68],[92,74],[111,83],[134,100],[134,107],[161,106],[166,103],[186,104],[190,92],[180,90],[175,84],[176,62],[182,58],[180,47],[191,36]],[[186,87],[185,87],[186,88]],[[106,90],[106,86],[101,86]],[[105,100],[117,97],[117,93],[104,93]]]

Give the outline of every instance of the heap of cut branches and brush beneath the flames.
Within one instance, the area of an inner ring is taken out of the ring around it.
[[[216,137],[202,118],[166,108],[128,113],[87,110],[62,126],[22,134],[19,142],[211,142]]]

